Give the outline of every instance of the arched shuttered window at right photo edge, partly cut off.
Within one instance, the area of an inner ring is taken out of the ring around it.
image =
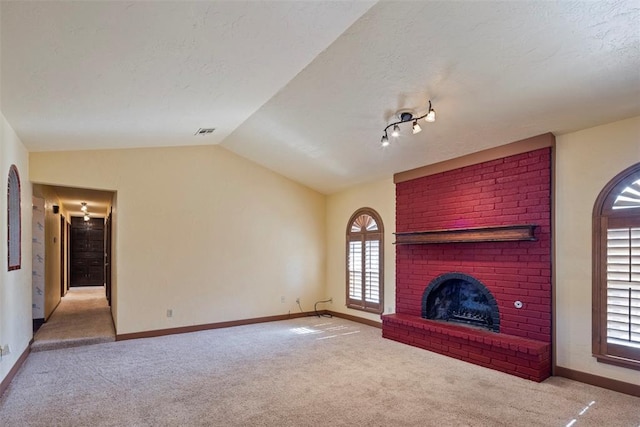
[[[640,163],[600,192],[593,210],[593,355],[640,369]]]

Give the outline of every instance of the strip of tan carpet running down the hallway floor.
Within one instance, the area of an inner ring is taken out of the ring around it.
[[[104,287],[74,287],[38,329],[31,351],[111,342],[115,336]]]

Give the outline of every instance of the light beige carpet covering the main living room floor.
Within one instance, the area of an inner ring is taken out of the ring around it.
[[[585,408],[588,408],[585,410]],[[7,426],[640,426],[640,398],[300,318],[31,354]],[[575,421],[572,421],[575,420]]]

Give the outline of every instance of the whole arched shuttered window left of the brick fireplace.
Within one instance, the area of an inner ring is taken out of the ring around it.
[[[347,307],[382,313],[384,228],[380,215],[358,209],[347,224]]]

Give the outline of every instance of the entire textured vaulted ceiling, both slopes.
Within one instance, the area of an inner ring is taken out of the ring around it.
[[[2,2],[0,107],[31,150],[219,143],[323,193],[640,115],[637,0],[372,4]]]

